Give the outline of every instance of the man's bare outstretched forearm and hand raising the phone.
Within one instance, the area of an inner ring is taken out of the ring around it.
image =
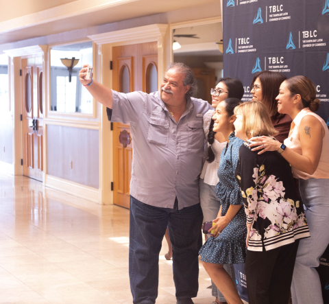
[[[91,79],[85,80],[86,77],[86,71],[88,65],[84,65],[84,67],[79,72],[79,80],[83,85],[90,84]],[[96,80],[93,80],[93,83],[90,84],[90,86],[85,86],[85,88],[90,92],[91,95],[97,100],[97,102],[100,102],[104,106],[108,108],[112,108],[113,104],[113,96],[112,96],[112,90],[108,89],[107,86],[103,86],[103,84],[100,84]]]

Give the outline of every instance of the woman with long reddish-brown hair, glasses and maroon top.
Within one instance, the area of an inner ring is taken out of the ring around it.
[[[279,72],[263,71],[254,76],[252,85],[250,86],[250,93],[252,93],[252,100],[263,102],[267,110],[273,127],[278,131],[276,139],[283,143],[289,135],[291,118],[289,115],[278,113],[278,104],[276,96],[280,89],[280,84],[286,80],[287,77]]]

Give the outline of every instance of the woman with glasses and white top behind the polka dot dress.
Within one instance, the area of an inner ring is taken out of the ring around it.
[[[228,97],[235,97],[241,100],[243,97],[243,84],[240,80],[234,78],[221,78],[215,89],[211,90],[212,107],[216,108],[219,102],[226,100]],[[213,130],[214,120],[211,119],[215,113],[214,110],[208,110],[204,114],[204,133],[208,139],[208,155],[202,174],[200,176],[200,202],[202,212],[204,213],[204,222],[210,222],[217,218],[221,203],[215,194],[215,185],[218,183],[217,170],[221,152],[226,147],[226,139],[221,132]],[[207,235],[206,235],[207,237]],[[225,264],[225,270],[234,280],[234,268],[232,264]],[[225,303],[226,300],[212,282],[212,296],[215,296],[215,302]]]

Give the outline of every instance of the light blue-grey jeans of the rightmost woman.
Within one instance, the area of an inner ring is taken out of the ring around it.
[[[329,243],[328,189],[328,178],[300,179],[300,194],[310,237],[301,239],[298,246],[291,283],[293,304],[324,303],[319,274],[315,268],[319,266],[319,258]]]

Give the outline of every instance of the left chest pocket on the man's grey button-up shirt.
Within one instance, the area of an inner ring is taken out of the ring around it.
[[[147,118],[147,142],[167,147],[169,137],[169,121],[160,117]]]

